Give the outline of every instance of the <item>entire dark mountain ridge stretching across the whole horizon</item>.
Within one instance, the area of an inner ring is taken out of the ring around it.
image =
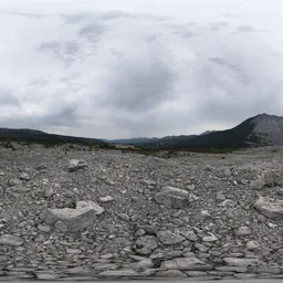
[[[165,136],[161,138],[137,137],[122,139],[98,139],[48,134],[29,128],[0,128],[1,140],[30,143],[109,145],[123,144],[159,148],[182,147],[256,147],[283,145],[283,117],[266,113],[250,117],[239,125],[223,130],[207,130],[200,135]]]

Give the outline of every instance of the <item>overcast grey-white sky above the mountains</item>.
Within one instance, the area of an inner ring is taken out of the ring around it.
[[[0,127],[99,138],[283,116],[282,0],[1,0]]]

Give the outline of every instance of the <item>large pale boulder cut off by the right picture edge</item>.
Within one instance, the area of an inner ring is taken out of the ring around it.
[[[270,197],[260,197],[255,201],[254,207],[268,218],[283,218],[283,200],[274,200]]]

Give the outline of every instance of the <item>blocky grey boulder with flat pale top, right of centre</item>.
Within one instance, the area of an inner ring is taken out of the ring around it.
[[[164,187],[155,195],[156,202],[168,207],[180,209],[188,205],[189,192],[175,187]]]

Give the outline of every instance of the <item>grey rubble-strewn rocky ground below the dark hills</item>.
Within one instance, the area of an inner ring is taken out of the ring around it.
[[[282,156],[0,148],[0,281],[283,277]]]

